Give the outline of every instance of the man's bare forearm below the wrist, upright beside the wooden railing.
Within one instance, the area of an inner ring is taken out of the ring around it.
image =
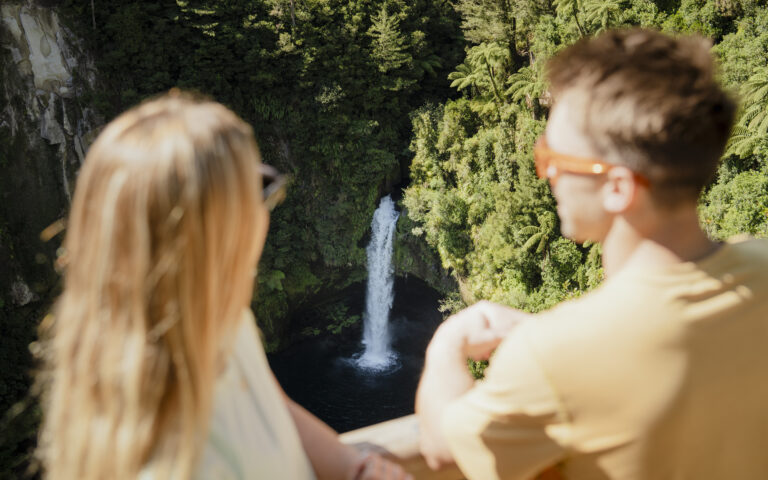
[[[474,379],[460,344],[436,336],[427,350],[424,373],[416,394],[421,451],[431,468],[453,462],[443,437],[441,418],[445,407],[471,389],[473,384]]]

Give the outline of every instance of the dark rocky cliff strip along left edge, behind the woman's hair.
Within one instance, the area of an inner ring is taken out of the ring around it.
[[[0,478],[27,470],[39,410],[28,345],[57,293],[61,235],[41,232],[69,207],[95,126],[85,107],[93,62],[50,8],[0,6]],[[50,232],[50,230],[49,230]]]

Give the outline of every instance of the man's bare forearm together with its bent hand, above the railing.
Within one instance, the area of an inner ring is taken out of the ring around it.
[[[474,384],[467,358],[487,359],[527,313],[481,301],[448,318],[427,347],[424,373],[416,393],[421,453],[430,468],[453,461],[440,427],[443,410]]]

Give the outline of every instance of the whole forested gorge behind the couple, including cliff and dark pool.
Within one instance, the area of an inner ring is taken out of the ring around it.
[[[557,4],[3,1],[0,478],[35,476],[30,349],[41,352],[36,328],[60,290],[57,221],[77,171],[102,125],[170,88],[236,111],[264,161],[293,179],[271,218],[252,308],[286,390],[300,402],[328,392],[310,409],[338,429],[410,411],[417,352],[443,314],[478,299],[538,312],[600,284],[600,245],[559,234],[554,199],[533,168],[551,104],[545,62],[607,28],[696,33],[712,39],[722,81],[743,93],[743,110],[765,112],[768,7],[632,0],[576,15]],[[768,137],[765,122],[751,120],[738,120],[700,200],[715,239],[768,235]],[[388,316],[398,357],[372,375],[350,359],[363,351],[366,247],[387,194],[400,212]],[[354,411],[362,417],[345,418]]]

